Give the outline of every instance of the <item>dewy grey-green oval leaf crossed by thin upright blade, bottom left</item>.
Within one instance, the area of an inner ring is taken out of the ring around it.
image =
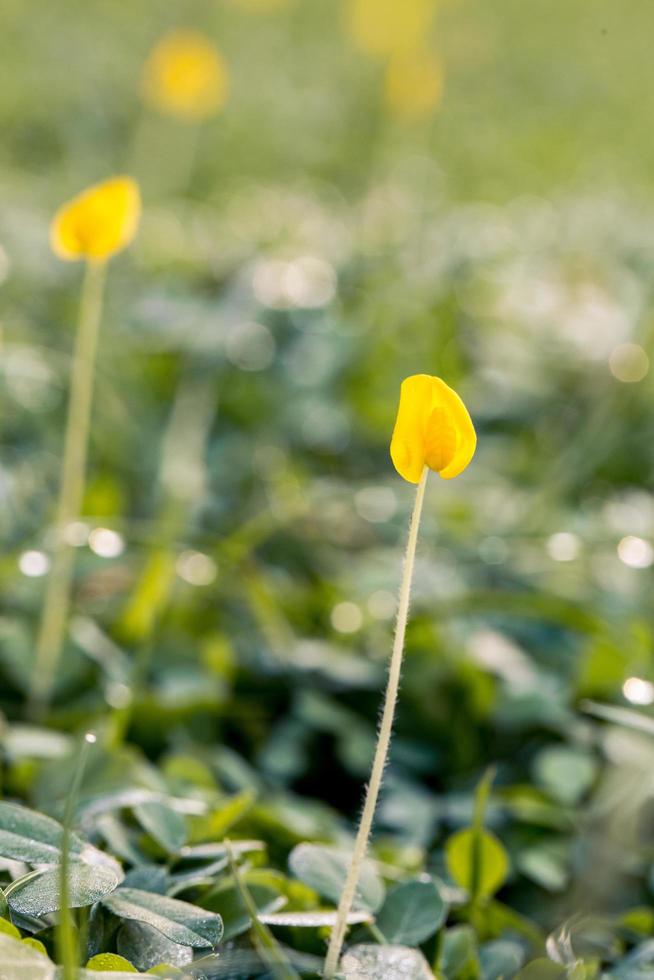
[[[56,912],[60,907],[59,878],[59,868],[52,868],[13,882],[7,895],[12,911],[37,917]],[[70,907],[82,908],[112,892],[120,883],[120,876],[108,866],[78,862],[71,864],[68,882]]]

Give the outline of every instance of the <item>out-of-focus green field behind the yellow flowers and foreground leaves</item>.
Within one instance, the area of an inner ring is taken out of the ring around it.
[[[282,851],[342,834],[412,505],[399,384],[438,374],[479,449],[428,485],[379,834],[440,867],[494,763],[509,904],[547,928],[649,905],[654,8],[442,0],[442,93],[407,115],[347,0],[265,6],[3,5],[5,792],[38,802],[57,754],[24,741],[80,279],[48,224],[129,172],[49,730],[111,719],[163,772],[255,788]],[[139,97],[178,28],[229,72],[201,123]]]

